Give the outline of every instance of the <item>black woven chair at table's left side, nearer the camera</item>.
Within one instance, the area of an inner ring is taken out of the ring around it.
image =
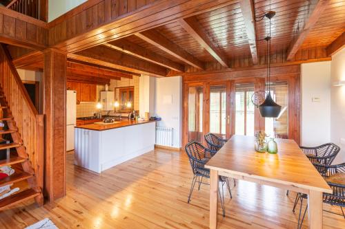
[[[217,153],[217,151],[207,149],[205,146],[195,141],[186,144],[185,149],[189,158],[190,166],[192,166],[193,174],[194,174],[192,184],[190,186],[190,192],[188,195],[188,203],[189,203],[190,197],[192,196],[192,193],[193,193],[195,183],[196,182],[199,183],[198,190],[200,190],[201,184],[207,184],[207,183],[202,182],[203,178],[210,178],[210,170],[208,168],[205,168],[205,164],[206,162],[208,162],[208,160],[210,160],[211,157],[213,157],[213,155]],[[225,217],[224,188],[223,188],[225,184],[228,187],[230,198],[233,198],[233,196],[231,195],[230,184],[228,182],[228,178],[219,176],[219,181],[221,182],[221,186],[219,186],[219,190],[218,190],[220,201],[221,201],[221,209],[223,210],[223,216]]]

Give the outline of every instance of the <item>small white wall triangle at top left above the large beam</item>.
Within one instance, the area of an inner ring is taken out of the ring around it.
[[[87,0],[49,0],[48,1],[48,22],[60,17],[62,14],[79,6]]]

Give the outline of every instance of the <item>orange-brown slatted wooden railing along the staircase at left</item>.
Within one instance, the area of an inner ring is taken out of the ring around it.
[[[37,185],[43,189],[44,119],[32,103],[5,45],[0,45],[0,85],[8,101],[21,142],[26,147]]]

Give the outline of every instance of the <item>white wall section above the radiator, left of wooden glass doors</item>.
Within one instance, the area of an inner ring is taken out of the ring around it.
[[[181,76],[157,78],[155,113],[161,117],[158,127],[172,127],[173,147],[181,147],[182,78]]]

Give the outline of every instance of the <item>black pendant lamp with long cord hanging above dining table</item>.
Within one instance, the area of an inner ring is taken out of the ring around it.
[[[274,11],[270,11],[265,14],[269,20],[275,16]],[[264,102],[259,105],[259,111],[261,116],[264,118],[277,118],[279,116],[280,111],[282,110],[282,106],[277,105],[273,100],[272,96],[270,95],[270,34],[266,36],[265,40],[267,41],[267,89],[268,95]]]

